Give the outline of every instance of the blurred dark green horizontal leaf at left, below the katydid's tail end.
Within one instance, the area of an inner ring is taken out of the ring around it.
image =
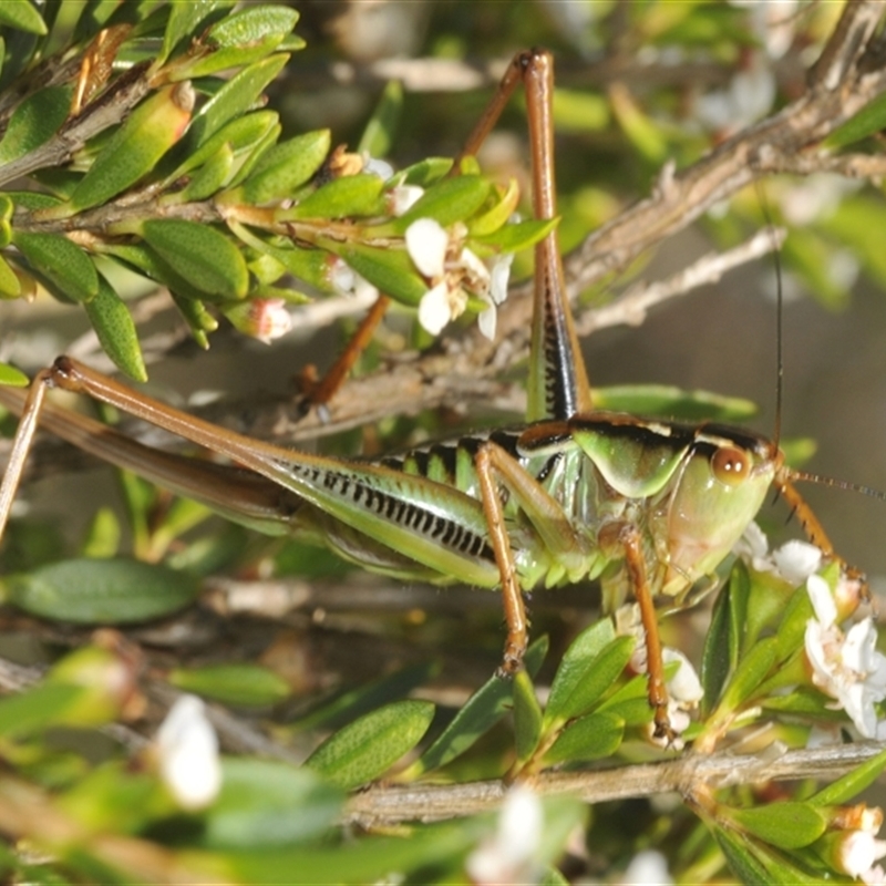
[[[199,585],[186,573],[130,559],[73,559],[12,575],[0,585],[30,615],[80,625],[127,625],[193,602]]]

